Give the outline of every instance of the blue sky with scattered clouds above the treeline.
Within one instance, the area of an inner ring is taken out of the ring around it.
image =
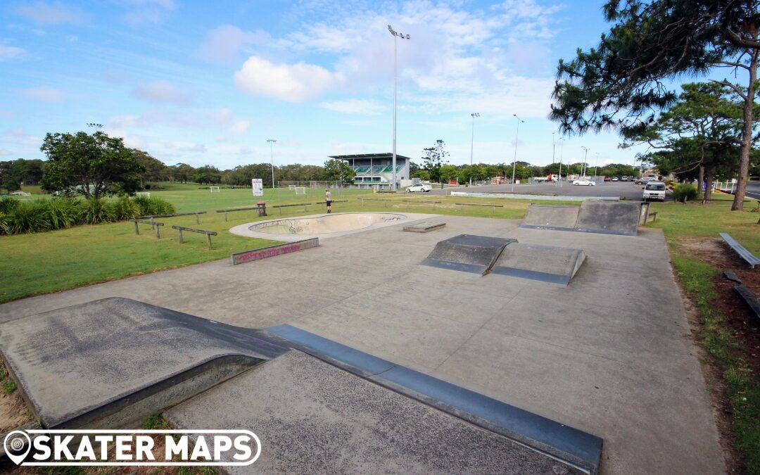
[[[607,30],[603,2],[2,2],[0,160],[44,158],[46,132],[109,135],[169,165],[221,169],[391,151],[420,162],[552,161],[559,58]],[[556,157],[561,150],[559,134]],[[569,138],[563,161],[632,163],[612,133]]]

